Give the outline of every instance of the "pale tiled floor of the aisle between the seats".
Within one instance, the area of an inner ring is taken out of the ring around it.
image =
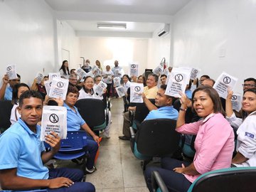
[[[110,139],[102,139],[100,156],[97,159],[97,171],[87,175],[86,181],[95,185],[97,192],[146,192],[146,183],[142,174],[140,161],[136,159],[128,141],[118,139],[122,135],[123,100],[112,100],[112,124]],[[69,161],[62,166],[76,167]]]

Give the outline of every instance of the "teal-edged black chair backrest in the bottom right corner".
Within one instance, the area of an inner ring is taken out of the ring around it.
[[[232,167],[210,171],[194,181],[189,192],[255,191],[256,167]]]

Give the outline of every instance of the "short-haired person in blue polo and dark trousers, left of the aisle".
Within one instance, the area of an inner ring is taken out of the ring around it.
[[[99,137],[92,132],[90,127],[86,124],[85,120],[82,119],[78,108],[75,107],[75,103],[78,101],[79,92],[76,87],[69,86],[67,97],[64,102],[64,107],[67,108],[67,127],[69,131],[78,131],[84,129],[87,132],[87,148],[90,156],[87,158],[86,171],[87,174],[92,174],[97,169],[94,166],[95,156],[98,149]],[[89,134],[89,135],[88,135]],[[76,159],[79,162],[79,159]]]

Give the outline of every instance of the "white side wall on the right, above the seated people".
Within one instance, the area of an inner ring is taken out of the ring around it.
[[[216,79],[223,71],[255,78],[255,0],[193,0],[174,17],[174,65],[201,68]],[[203,75],[202,74],[202,75]]]

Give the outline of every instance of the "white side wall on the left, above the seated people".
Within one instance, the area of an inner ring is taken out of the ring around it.
[[[55,68],[54,16],[45,1],[0,1],[0,76],[16,64],[21,82]]]

